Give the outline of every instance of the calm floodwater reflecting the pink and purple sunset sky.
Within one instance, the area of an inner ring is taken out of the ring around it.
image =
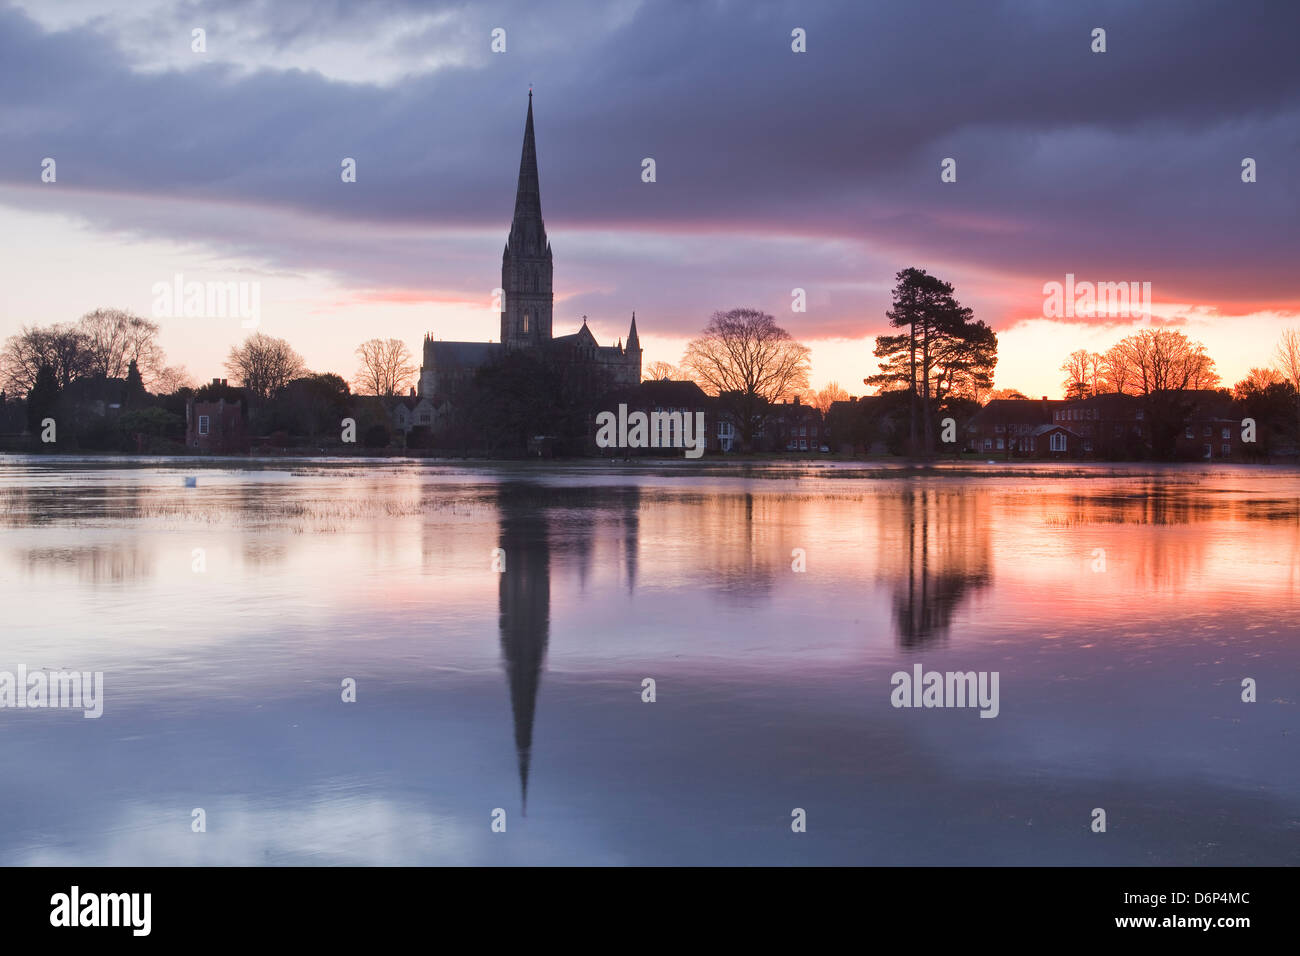
[[[4,864],[1300,862],[1294,470],[6,457],[0,528],[0,671],[104,675],[0,709]]]

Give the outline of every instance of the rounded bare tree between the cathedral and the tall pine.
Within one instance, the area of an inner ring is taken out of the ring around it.
[[[714,312],[698,338],[686,345],[682,371],[716,395],[740,431],[745,450],[763,427],[767,410],[809,386],[811,350],[753,308]]]

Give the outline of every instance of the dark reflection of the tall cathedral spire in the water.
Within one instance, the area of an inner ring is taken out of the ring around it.
[[[546,512],[540,496],[526,486],[503,486],[498,498],[500,548],[500,650],[510,678],[510,706],[515,719],[519,787],[528,814],[528,769],[533,749],[533,715],[550,635],[551,572]]]

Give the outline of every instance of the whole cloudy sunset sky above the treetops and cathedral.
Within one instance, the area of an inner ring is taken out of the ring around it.
[[[0,337],[125,308],[226,375],[250,329],[159,315],[181,276],[256,284],[257,330],[344,377],[368,338],[497,338],[532,86],[556,334],[636,311],[676,363],[762,308],[864,394],[916,267],[998,333],[998,388],[1057,397],[1147,324],[1231,385],[1300,328],[1297,34],[1290,0],[0,0]],[[1067,274],[1149,282],[1150,317],[1048,317]]]

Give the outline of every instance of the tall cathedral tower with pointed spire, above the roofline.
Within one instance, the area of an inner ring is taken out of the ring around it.
[[[537,179],[533,139],[533,91],[528,91],[524,152],[519,160],[515,220],[500,261],[500,341],[506,349],[537,347],[551,339],[551,243],[542,222],[542,194]]]

